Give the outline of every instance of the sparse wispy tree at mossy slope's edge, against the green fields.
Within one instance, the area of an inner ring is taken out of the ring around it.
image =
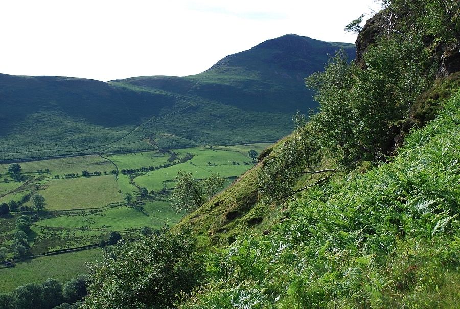
[[[212,175],[208,179],[198,180],[193,178],[191,172],[180,170],[177,177],[176,187],[171,195],[172,208],[177,211],[193,211],[222,188],[224,179],[219,175]]]

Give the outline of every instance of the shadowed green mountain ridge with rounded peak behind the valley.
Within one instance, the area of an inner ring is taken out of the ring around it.
[[[0,74],[0,160],[274,141],[316,107],[303,79],[354,45],[294,34],[192,76],[101,82]]]

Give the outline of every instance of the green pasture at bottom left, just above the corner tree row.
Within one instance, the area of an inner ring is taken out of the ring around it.
[[[66,281],[89,272],[87,262],[102,260],[103,250],[88,249],[59,255],[42,256],[0,269],[0,292],[10,292],[30,282],[43,283],[54,278]]]

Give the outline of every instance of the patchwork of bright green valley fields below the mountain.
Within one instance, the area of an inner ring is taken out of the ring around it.
[[[112,231],[120,232],[123,238],[136,238],[145,226],[173,226],[185,215],[177,214],[171,209],[168,191],[157,194],[164,187],[174,187],[173,179],[179,170],[191,171],[195,178],[220,174],[227,178],[225,186],[228,186],[253,166],[248,151],[254,149],[261,152],[267,145],[269,144],[200,146],[168,151],[109,154],[104,157],[95,155],[18,162],[22,167],[22,174],[26,176],[25,182],[13,181],[7,174],[9,164],[0,164],[0,173],[3,173],[0,179],[0,202],[9,202],[12,199],[18,201],[26,194],[40,194],[45,198],[45,211],[39,213],[41,219],[31,226],[31,254],[98,244],[101,239],[108,240]],[[190,155],[191,159],[179,163],[180,159]],[[143,167],[157,169],[142,171]],[[120,171],[118,175],[110,174],[117,168]],[[49,172],[45,172],[46,169]],[[136,171],[125,175],[121,174],[123,169]],[[101,175],[83,177],[83,170],[98,171]],[[64,178],[65,174],[72,173],[78,173],[79,176]],[[4,177],[8,178],[7,182],[3,182]],[[138,187],[145,187],[155,193],[141,198]],[[127,205],[124,200],[126,193],[134,197],[131,205]],[[24,205],[33,204],[28,201]],[[34,213],[25,214],[30,216]],[[12,243],[12,229],[15,219],[20,215],[22,213],[17,212],[13,217],[0,218],[0,223],[2,220],[5,223],[0,229],[0,247],[8,247]],[[90,254],[91,252],[99,252],[99,255]],[[11,256],[12,253],[9,254]],[[1,269],[0,292],[11,291],[28,282],[42,282],[49,277],[65,281],[86,272],[84,261],[92,261],[95,256],[100,257],[100,251],[87,250],[40,257],[21,262],[14,268]],[[66,263],[73,265],[72,271],[61,274]],[[52,268],[51,264],[56,267],[48,272]],[[39,271],[34,273],[34,268]],[[13,275],[16,272],[17,276]]]

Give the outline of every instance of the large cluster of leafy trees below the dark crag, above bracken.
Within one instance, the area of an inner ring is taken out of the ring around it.
[[[363,60],[364,68],[339,51],[324,72],[306,79],[319,112],[308,122],[297,115],[294,138],[264,162],[260,191],[268,200],[296,193],[302,175],[325,173],[325,180],[362,161],[384,162],[395,150],[412,104],[434,77],[429,52],[421,34],[384,32]],[[331,168],[317,170],[326,158]]]

